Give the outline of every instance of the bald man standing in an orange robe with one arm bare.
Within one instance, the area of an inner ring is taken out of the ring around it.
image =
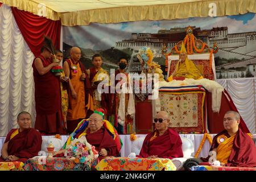
[[[65,75],[70,78],[68,88],[69,109],[67,114],[68,133],[72,133],[81,119],[85,118],[87,110],[93,110],[93,108],[90,108],[90,104],[88,104],[91,86],[86,69],[80,61],[81,49],[72,47],[70,53],[71,58],[65,60],[63,65]],[[92,99],[89,101],[92,102]],[[91,105],[93,104],[91,103]]]

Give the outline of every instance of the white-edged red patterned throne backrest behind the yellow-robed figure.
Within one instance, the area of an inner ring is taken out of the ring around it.
[[[188,55],[188,59],[191,59],[193,63],[195,63],[204,78],[208,78],[209,80],[216,80],[214,55],[212,55],[212,64],[210,64],[210,53]],[[178,61],[179,55],[168,56],[167,77],[169,77],[175,71]]]

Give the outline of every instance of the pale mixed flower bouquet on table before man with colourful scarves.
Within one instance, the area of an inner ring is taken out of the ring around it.
[[[74,139],[66,148],[65,156],[75,159],[75,163],[92,164],[98,158],[98,151],[91,146],[85,136]]]

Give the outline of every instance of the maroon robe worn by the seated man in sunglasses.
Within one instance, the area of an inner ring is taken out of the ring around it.
[[[176,131],[167,129],[163,135],[150,141],[155,132],[156,130],[148,134],[144,139],[139,157],[148,158],[152,155],[168,159],[183,157],[182,142]]]

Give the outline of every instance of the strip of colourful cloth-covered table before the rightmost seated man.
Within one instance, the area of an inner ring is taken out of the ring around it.
[[[193,166],[191,171],[256,171],[253,167]]]

